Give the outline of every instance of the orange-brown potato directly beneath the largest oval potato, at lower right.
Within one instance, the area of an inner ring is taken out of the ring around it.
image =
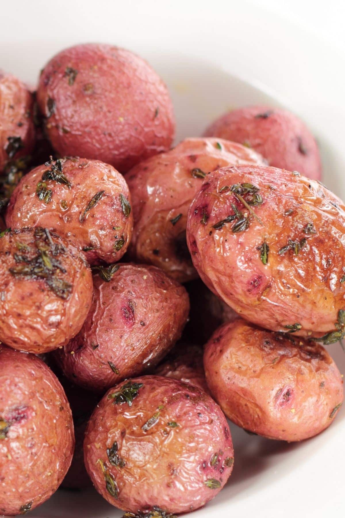
[[[269,439],[313,437],[333,423],[342,404],[340,372],[320,344],[242,319],[213,334],[204,367],[228,418]]]

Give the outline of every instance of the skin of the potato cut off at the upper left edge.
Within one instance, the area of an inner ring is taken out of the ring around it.
[[[13,156],[6,152],[9,137],[21,138],[22,147]],[[31,154],[34,144],[32,93],[19,79],[0,70],[0,173],[11,161]]]

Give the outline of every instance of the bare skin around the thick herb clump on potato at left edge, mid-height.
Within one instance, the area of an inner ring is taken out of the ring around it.
[[[57,296],[44,279],[11,275],[9,268],[23,264],[16,263],[14,254],[37,254],[33,229],[0,238],[0,340],[13,349],[44,353],[63,346],[79,332],[91,306],[92,275],[84,257],[56,234],[50,236],[65,249],[55,258],[66,272],[55,275],[72,285],[68,299]],[[29,251],[19,251],[17,243]]]

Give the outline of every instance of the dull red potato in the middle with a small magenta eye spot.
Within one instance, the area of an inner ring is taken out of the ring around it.
[[[91,309],[56,359],[65,375],[102,391],[152,369],[181,337],[186,290],[154,266],[121,263],[109,282],[94,276]]]

